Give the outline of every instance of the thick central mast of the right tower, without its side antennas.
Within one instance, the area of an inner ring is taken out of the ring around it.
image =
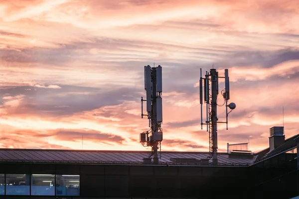
[[[211,93],[212,93],[212,100],[211,100],[211,122],[212,122],[212,155],[213,155],[213,163],[217,164],[217,149],[218,149],[218,143],[217,143],[217,75],[216,75],[216,69],[210,70],[211,74]]]

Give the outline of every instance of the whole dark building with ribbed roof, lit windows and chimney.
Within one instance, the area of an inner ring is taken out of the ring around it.
[[[0,149],[0,198],[292,198],[297,139],[275,128],[269,148],[219,153]],[[273,131],[273,130],[272,130]],[[277,136],[281,136],[278,138]]]

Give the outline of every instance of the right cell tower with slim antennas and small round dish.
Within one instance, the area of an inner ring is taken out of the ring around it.
[[[225,89],[221,91],[221,94],[224,98],[223,104],[217,103],[217,97],[219,93],[218,87],[218,79],[225,78]],[[204,82],[204,101],[206,103],[206,121],[202,122],[202,81]],[[211,84],[210,84],[211,82]],[[211,85],[211,86],[210,86]],[[211,95],[210,95],[211,91]],[[201,129],[202,125],[207,125],[207,131],[209,132],[209,151],[210,151],[210,158],[212,158],[213,163],[217,164],[217,123],[226,123],[226,130],[228,129],[228,114],[236,108],[236,104],[231,102],[227,104],[228,100],[230,99],[229,93],[229,77],[228,77],[228,69],[224,70],[224,77],[219,77],[218,72],[216,69],[211,69],[210,73],[206,71],[206,75],[202,78],[202,73],[200,69],[200,81],[199,81],[199,98],[200,98],[200,116],[201,116]],[[226,107],[226,121],[218,121],[217,117],[217,105]],[[227,107],[231,109],[231,111],[227,112]]]

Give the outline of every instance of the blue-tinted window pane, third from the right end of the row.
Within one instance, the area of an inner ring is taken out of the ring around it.
[[[6,195],[29,195],[29,174],[6,174]]]

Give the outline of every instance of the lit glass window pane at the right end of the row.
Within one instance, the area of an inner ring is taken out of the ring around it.
[[[79,175],[56,175],[56,196],[80,196]]]

